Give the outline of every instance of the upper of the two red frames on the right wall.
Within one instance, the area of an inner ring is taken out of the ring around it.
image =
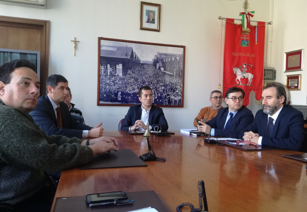
[[[284,66],[284,72],[302,71],[304,66],[304,49],[286,52]]]

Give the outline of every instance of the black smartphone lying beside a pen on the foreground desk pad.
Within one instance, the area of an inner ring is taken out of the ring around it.
[[[86,195],[87,204],[126,200],[126,199],[128,199],[128,196],[125,191],[115,191],[115,192]]]

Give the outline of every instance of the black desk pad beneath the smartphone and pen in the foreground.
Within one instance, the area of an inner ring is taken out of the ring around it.
[[[108,205],[99,207],[89,207],[83,197],[63,197],[56,198],[53,212],[84,212],[84,211],[101,211],[101,212],[126,212],[147,207],[152,207],[159,212],[170,212],[161,198],[155,191],[138,191],[127,193],[128,200],[133,199],[134,203],[126,205]]]

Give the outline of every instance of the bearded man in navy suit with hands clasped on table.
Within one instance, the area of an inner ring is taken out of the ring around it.
[[[262,91],[263,110],[258,110],[255,120],[241,131],[240,137],[259,146],[298,151],[304,139],[304,117],[286,105],[285,96],[281,84],[268,83]]]

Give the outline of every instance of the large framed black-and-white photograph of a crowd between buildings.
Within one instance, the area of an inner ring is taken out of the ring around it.
[[[140,104],[149,86],[153,105],[183,107],[185,46],[98,37],[97,105]]]

